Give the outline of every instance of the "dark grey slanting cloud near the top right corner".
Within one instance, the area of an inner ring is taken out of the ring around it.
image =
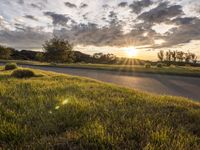
[[[138,16],[138,19],[144,20],[146,22],[161,23],[183,14],[184,12],[182,10],[182,6],[170,6],[169,3],[164,2],[159,4],[156,8],[142,13]]]

